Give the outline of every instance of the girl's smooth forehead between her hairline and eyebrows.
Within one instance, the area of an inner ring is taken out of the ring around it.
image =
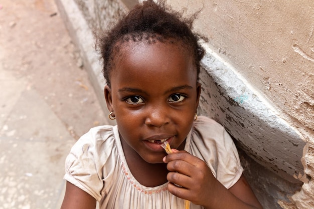
[[[120,43],[113,56],[111,82],[118,74],[160,76],[185,74],[197,78],[192,53],[181,42],[124,42]]]

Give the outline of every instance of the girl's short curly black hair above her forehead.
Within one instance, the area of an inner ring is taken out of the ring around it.
[[[200,61],[205,50],[199,44],[200,37],[192,32],[192,25],[197,14],[189,18],[183,18],[182,14],[168,7],[165,1],[158,3],[152,0],[144,1],[135,6],[128,14],[98,40],[96,47],[99,49],[103,61],[103,76],[110,87],[110,70],[114,63],[114,56],[118,52],[121,43],[146,42],[147,44],[159,42],[179,42],[194,57],[197,70],[197,78],[200,72]]]

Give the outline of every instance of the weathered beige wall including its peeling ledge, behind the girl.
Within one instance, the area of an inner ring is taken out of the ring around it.
[[[103,102],[92,31],[136,0],[56,0]],[[223,124],[264,208],[313,208],[314,2],[168,0],[209,38],[199,114]],[[104,110],[106,111],[106,107]]]

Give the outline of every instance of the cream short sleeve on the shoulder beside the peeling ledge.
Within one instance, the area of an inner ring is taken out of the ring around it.
[[[219,123],[207,117],[198,117],[190,140],[187,141],[191,144],[188,151],[203,159],[226,188],[239,180],[243,167],[236,146]]]

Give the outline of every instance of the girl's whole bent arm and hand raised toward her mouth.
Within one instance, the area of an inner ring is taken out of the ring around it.
[[[212,174],[207,164],[186,151],[172,149],[164,157],[170,171],[168,190],[205,208],[262,208],[245,177],[241,176],[229,190]],[[177,186],[177,185],[180,186]]]

